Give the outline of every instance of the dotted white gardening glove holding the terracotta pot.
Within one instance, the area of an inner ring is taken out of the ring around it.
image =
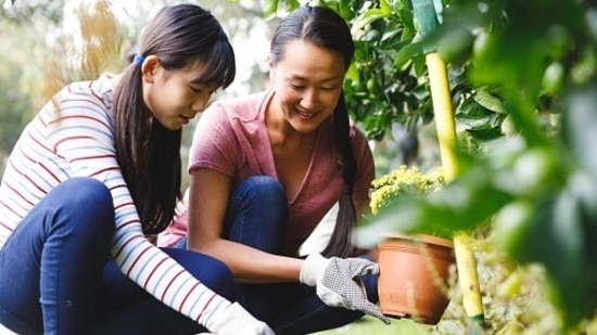
[[[389,324],[390,319],[367,299],[359,275],[378,274],[379,266],[364,258],[325,258],[310,254],[301,268],[300,281],[316,286],[319,298],[328,306],[359,310]]]

